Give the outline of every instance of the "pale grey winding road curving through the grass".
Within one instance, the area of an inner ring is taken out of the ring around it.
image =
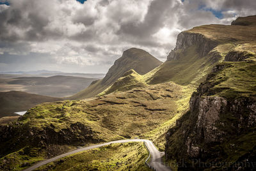
[[[35,165],[33,165],[32,167],[26,168],[24,171],[34,170],[38,167],[46,165],[47,163],[58,160],[60,158],[68,156],[70,154],[75,154],[77,152],[86,151],[86,150],[89,150],[89,149],[99,148],[99,147],[102,147],[104,145],[110,145],[110,144],[114,144],[114,143],[125,143],[125,142],[145,142],[145,145],[147,145],[148,151],[151,154],[150,162],[148,163],[150,165],[150,167],[154,168],[157,171],[167,171],[167,170],[170,171],[171,170],[170,168],[163,165],[163,163],[161,162],[161,157],[164,155],[164,152],[158,151],[157,148],[155,147],[155,145],[152,143],[152,141],[144,140],[144,139],[131,139],[131,140],[116,140],[116,141],[106,142],[106,143],[103,143],[103,144],[97,144],[97,145],[92,145],[92,146],[89,146],[89,147],[83,147],[83,148],[80,148],[80,149],[76,149],[74,151],[70,151],[70,152],[61,154],[61,155],[56,156],[54,158],[44,160],[44,161],[40,161],[40,162],[36,163]]]

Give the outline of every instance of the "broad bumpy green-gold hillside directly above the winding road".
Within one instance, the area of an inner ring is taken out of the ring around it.
[[[188,87],[168,82],[90,100],[37,105],[19,121],[0,127],[0,154],[3,157],[0,161],[12,161],[7,166],[9,169],[15,166],[21,169],[77,145],[136,137],[153,140],[163,151],[165,133],[170,124],[175,124],[177,112],[182,114],[187,110],[188,104],[183,105],[182,101],[188,100],[191,93]],[[22,167],[19,158],[24,154],[19,151],[25,150],[29,151],[26,160],[29,164]],[[13,152],[15,158],[8,155]],[[6,165],[0,165],[0,168],[6,168]]]

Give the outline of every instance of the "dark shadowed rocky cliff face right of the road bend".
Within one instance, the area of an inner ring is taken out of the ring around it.
[[[181,170],[214,170],[216,165],[218,169],[237,169],[240,166],[234,165],[243,163],[245,156],[252,154],[256,147],[253,143],[256,136],[256,96],[230,98],[212,91],[223,82],[216,80],[217,76],[231,67],[220,64],[212,69],[207,80],[191,96],[189,112],[166,135],[166,157],[185,163],[186,167],[179,166]],[[233,147],[238,148],[230,150]],[[246,160],[253,161],[254,157]],[[225,165],[227,163],[230,165]]]

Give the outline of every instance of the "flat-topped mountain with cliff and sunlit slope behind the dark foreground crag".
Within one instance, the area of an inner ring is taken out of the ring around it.
[[[250,22],[255,16],[249,17]],[[242,18],[249,20],[248,18]],[[242,20],[240,17],[237,20]],[[148,73],[148,84],[173,81],[180,85],[195,84],[198,86],[211,71],[212,66],[230,55],[241,56],[241,60],[255,60],[255,25],[217,25],[198,26],[183,31],[177,38],[176,47],[170,52],[167,61],[157,70]],[[254,52],[253,52],[254,51]],[[236,60],[236,59],[232,59]]]

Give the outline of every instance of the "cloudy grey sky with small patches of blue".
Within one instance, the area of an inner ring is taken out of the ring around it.
[[[166,61],[181,31],[255,9],[255,0],[0,0],[0,71],[106,73],[131,47]]]

